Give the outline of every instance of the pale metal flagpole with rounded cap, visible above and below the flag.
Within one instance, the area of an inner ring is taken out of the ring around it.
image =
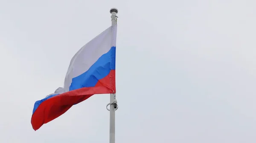
[[[116,14],[118,13],[118,10],[116,8],[111,8],[110,13],[113,26],[116,24]],[[110,105],[110,109],[108,109],[108,105]],[[110,103],[108,105],[107,109],[110,111],[109,143],[115,143],[115,111],[118,109],[116,94],[110,94]]]

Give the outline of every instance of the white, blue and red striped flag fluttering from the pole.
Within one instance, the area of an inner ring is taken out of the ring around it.
[[[116,93],[116,28],[109,27],[84,45],[71,59],[64,87],[35,102],[31,118],[34,130],[94,94]]]

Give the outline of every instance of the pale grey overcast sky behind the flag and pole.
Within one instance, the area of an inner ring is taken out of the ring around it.
[[[255,0],[0,0],[0,143],[109,142],[109,95],[30,120],[112,7],[116,143],[256,142]]]

